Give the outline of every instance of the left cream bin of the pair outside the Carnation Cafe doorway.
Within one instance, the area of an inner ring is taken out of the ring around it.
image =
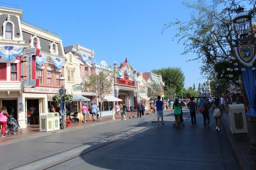
[[[53,131],[53,113],[40,114],[40,132]]]

